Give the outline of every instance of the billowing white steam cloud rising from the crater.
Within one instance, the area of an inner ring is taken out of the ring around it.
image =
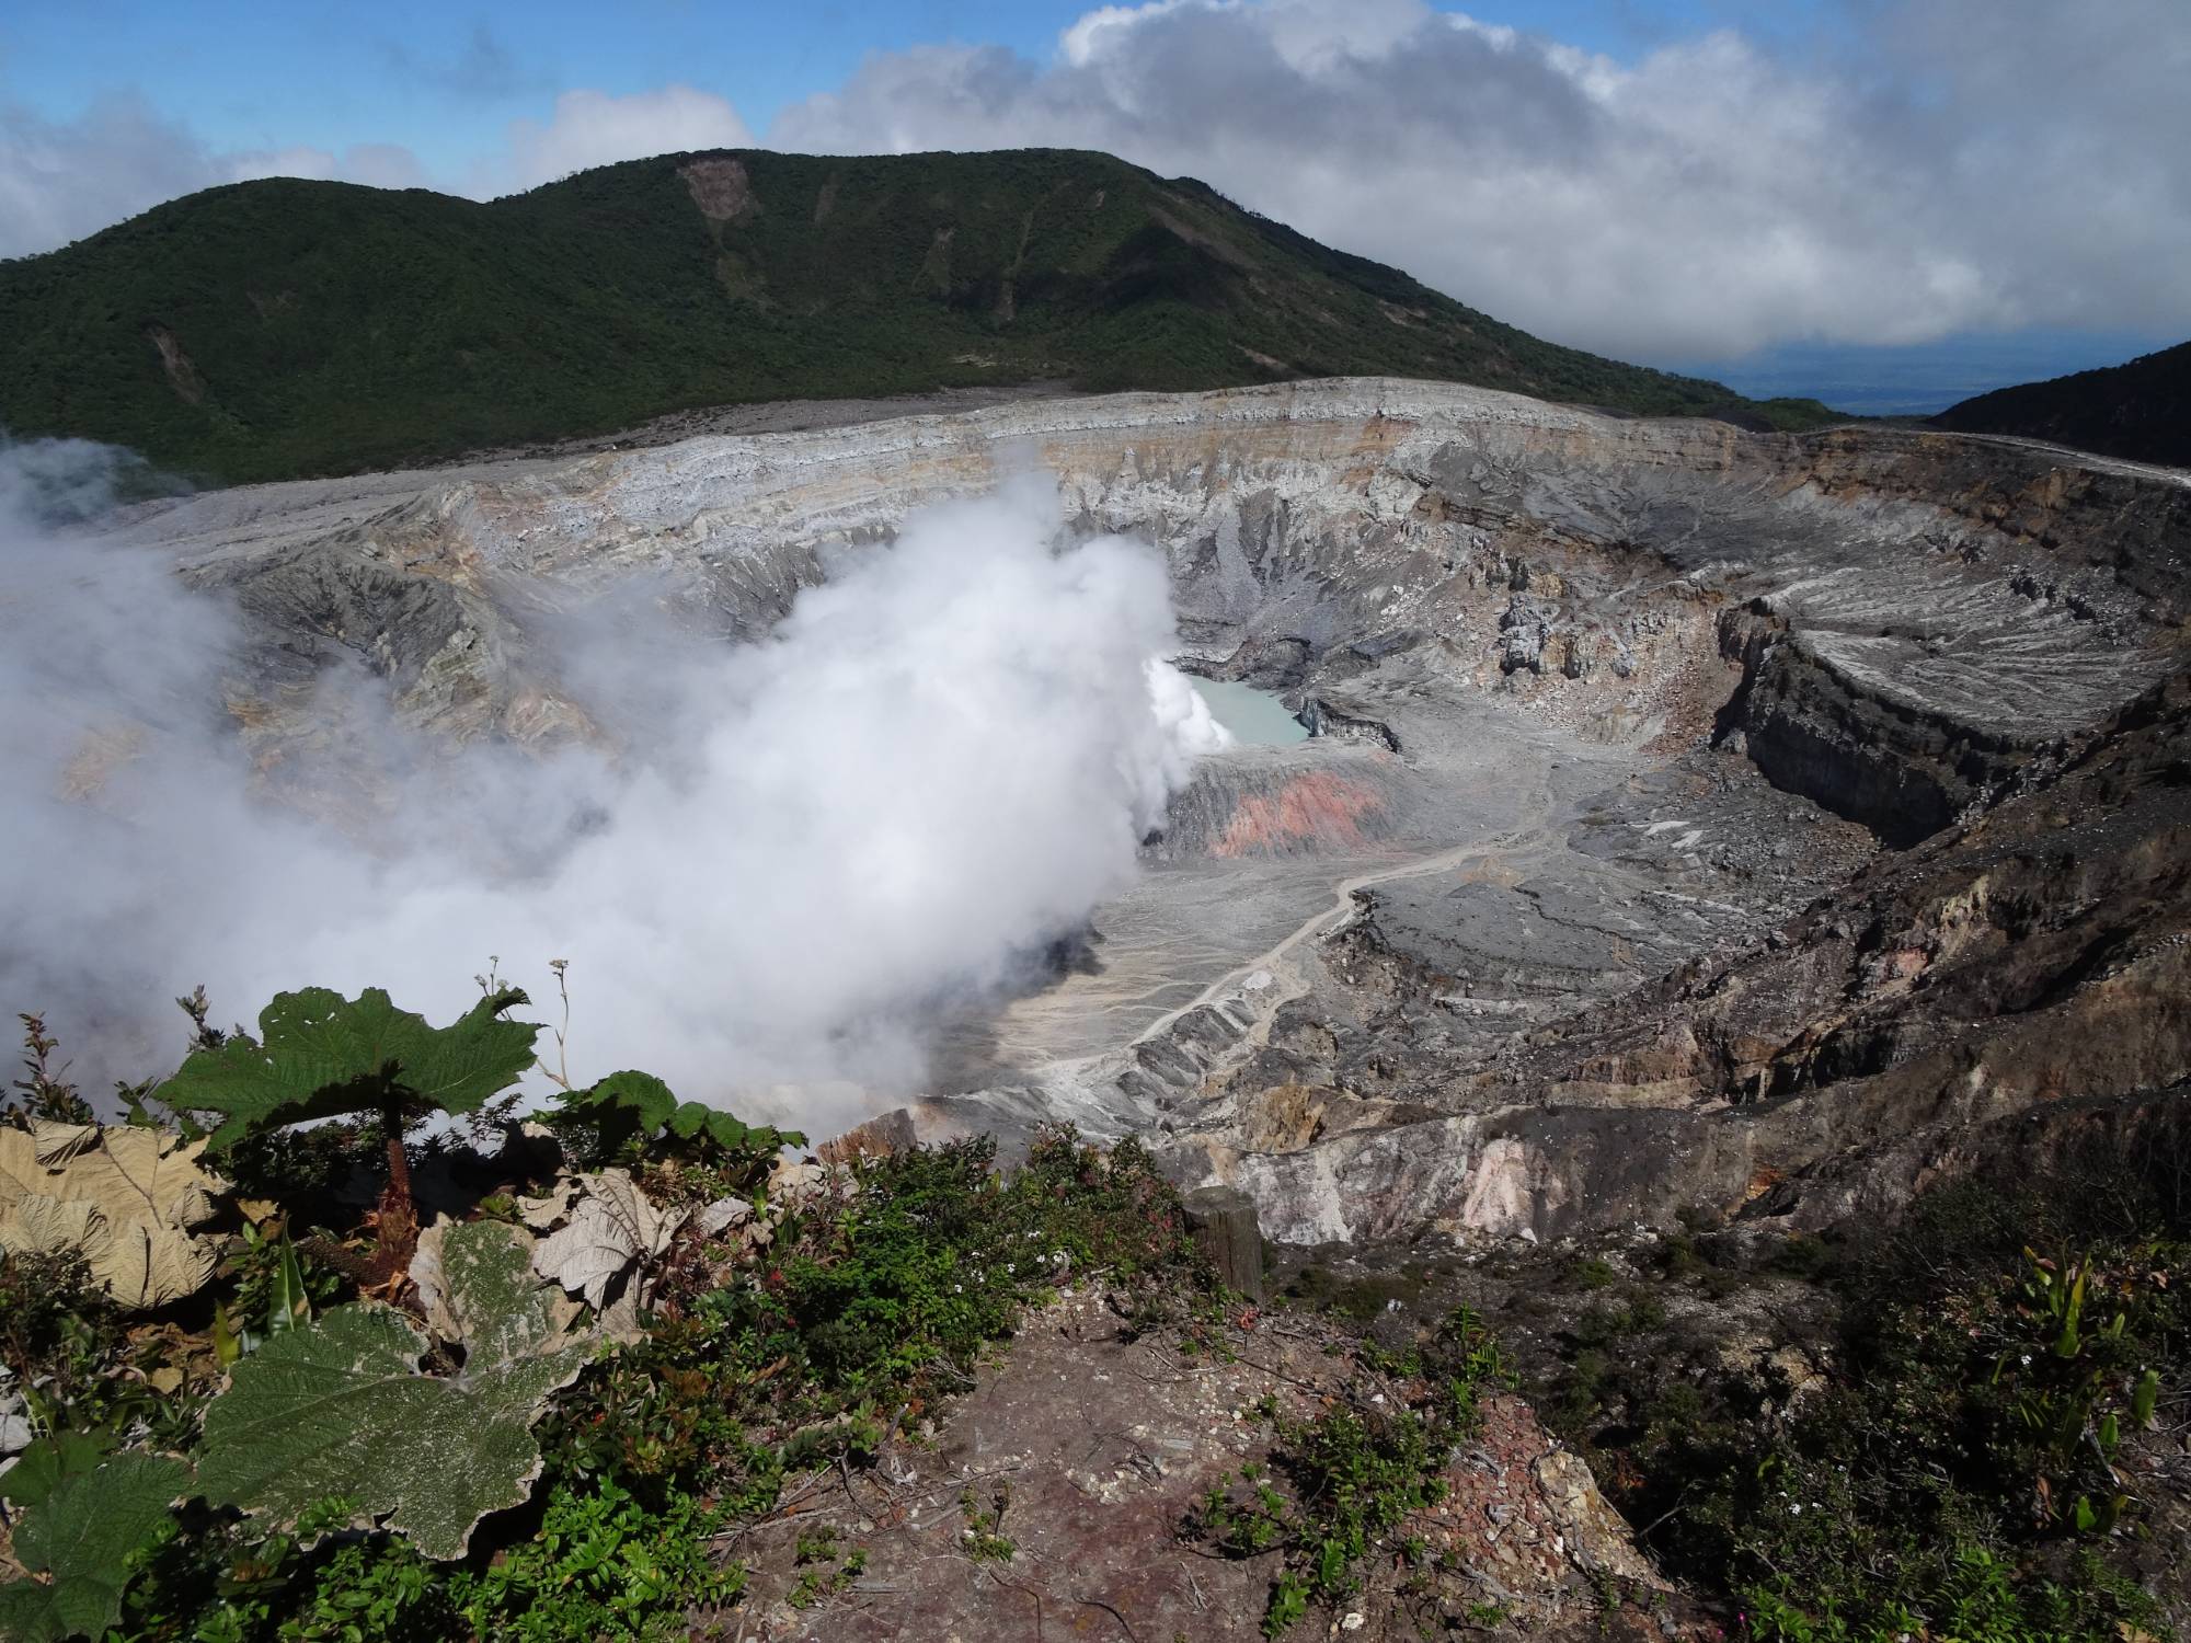
[[[116,460],[0,447],[0,1008],[46,1010],[79,1071],[164,1071],[195,981],[221,1021],[305,984],[447,1019],[500,953],[532,1019],[572,962],[574,1078],[857,1117],[922,1076],[942,1006],[1023,979],[1126,883],[1225,740],[1152,664],[1177,644],[1161,559],[1058,545],[1023,480],[909,517],[758,644],[605,605],[563,644],[613,756],[366,734],[333,769],[401,743],[405,773],[333,828],[267,800],[223,712],[234,613],[156,552],[50,526]]]

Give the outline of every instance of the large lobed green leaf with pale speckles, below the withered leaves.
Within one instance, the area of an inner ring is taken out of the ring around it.
[[[359,1527],[386,1516],[427,1558],[460,1558],[482,1516],[530,1494],[532,1422],[594,1349],[557,1332],[530,1249],[491,1220],[449,1229],[449,1310],[464,1332],[451,1380],[418,1374],[427,1336],[372,1303],[340,1306],[237,1363],[206,1406],[206,1498],[291,1525],[342,1496],[357,1501]]]

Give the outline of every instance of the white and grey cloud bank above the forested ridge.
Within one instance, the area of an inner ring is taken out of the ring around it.
[[[0,107],[0,254],[252,175],[495,195],[611,160],[1087,147],[1194,175],[1523,329],[1643,359],[2022,326],[2191,333],[2180,0],[1838,0],[1632,61],[1424,0],[1152,0],[1047,61],[870,55],[765,131],[703,88],[565,90],[462,175],[397,145],[215,153],[142,96]],[[1838,44],[1836,44],[1838,42]]]

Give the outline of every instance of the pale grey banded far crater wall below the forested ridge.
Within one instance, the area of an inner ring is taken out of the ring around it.
[[[1740,734],[1902,841],[2163,677],[2191,489],[2024,445],[1615,421],[1411,381],[1124,394],[142,510],[280,686],[344,651],[451,736],[587,734],[541,616],[635,574],[749,637],[909,508],[1021,467],[1152,539],[1190,653],[1369,725],[1393,655],[1608,743]]]

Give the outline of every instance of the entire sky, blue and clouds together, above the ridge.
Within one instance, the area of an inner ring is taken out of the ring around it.
[[[1926,410],[2191,335],[2182,0],[11,0],[0,254],[215,182],[1104,147],[1578,346]]]

